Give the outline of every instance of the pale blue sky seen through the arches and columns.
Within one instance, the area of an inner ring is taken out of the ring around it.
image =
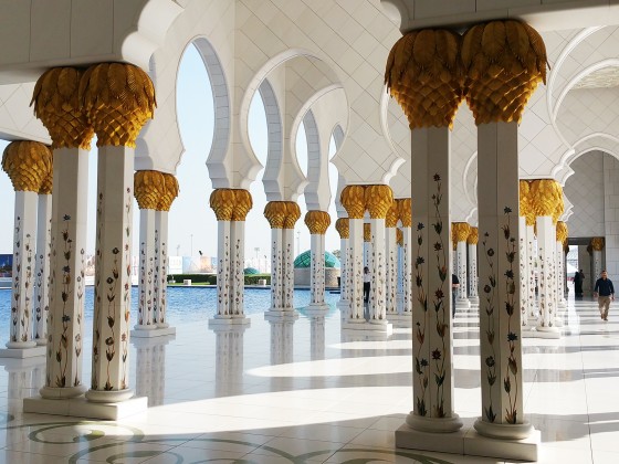
[[[185,154],[178,167],[177,179],[180,193],[172,203],[169,214],[169,254],[217,255],[217,220],[209,207],[212,184],[207,169],[207,157],[213,135],[213,105],[210,82],[206,67],[193,46],[187,48],[182,57],[177,84],[177,112]],[[157,112],[155,112],[157,117]],[[250,107],[249,133],[252,148],[258,159],[266,164],[266,118],[262,99],[256,93]],[[0,140],[0,151],[7,141]],[[88,165],[88,232],[86,253],[94,254],[95,198],[96,198],[96,146],[92,144]],[[297,156],[301,169],[307,171],[306,140],[303,126],[297,136]],[[329,158],[335,151],[332,139]],[[271,229],[264,218],[266,204],[261,171],[251,184],[253,208],[246,217],[245,257],[269,259]],[[325,236],[325,250],[339,250],[339,235],[335,230],[337,212],[335,210],[335,191],[337,188],[337,169],[329,164],[332,204],[329,214],[332,226]],[[14,214],[14,192],[6,172],[0,172],[0,254],[12,253],[12,224]],[[310,249],[310,231],[303,222],[306,212],[305,198],[298,198],[302,217],[295,228],[295,254]],[[138,250],[139,210],[134,200],[134,254]],[[300,232],[300,233],[298,233]],[[258,249],[258,250],[256,250]]]

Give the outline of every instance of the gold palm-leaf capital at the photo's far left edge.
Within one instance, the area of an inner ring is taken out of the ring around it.
[[[39,193],[53,169],[52,151],[38,141],[11,141],[2,154],[2,169],[15,191]]]

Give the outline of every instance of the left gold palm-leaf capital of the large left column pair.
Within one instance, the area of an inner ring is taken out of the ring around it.
[[[36,81],[30,106],[52,137],[52,148],[91,148],[93,126],[80,104],[80,80],[83,71],[54,67]]]

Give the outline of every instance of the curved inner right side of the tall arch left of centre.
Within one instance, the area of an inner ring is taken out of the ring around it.
[[[225,73],[214,49],[207,39],[198,38],[192,41],[192,44],[204,63],[213,94],[213,143],[207,158],[207,167],[213,189],[225,188],[230,187],[228,184],[228,168],[224,162],[230,144],[230,93],[225,82]]]

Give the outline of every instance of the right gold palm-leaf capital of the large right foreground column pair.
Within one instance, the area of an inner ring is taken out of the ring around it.
[[[514,20],[473,25],[462,39],[464,94],[475,124],[517,120],[539,82],[546,46],[535,29]]]

